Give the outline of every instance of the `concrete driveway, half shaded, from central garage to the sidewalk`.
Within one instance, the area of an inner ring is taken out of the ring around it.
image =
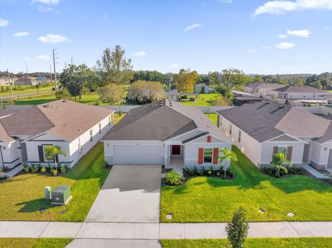
[[[86,222],[158,223],[161,166],[115,165]]]

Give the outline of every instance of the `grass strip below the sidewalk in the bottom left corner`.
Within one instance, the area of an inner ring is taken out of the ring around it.
[[[1,248],[64,248],[71,238],[0,238]]]

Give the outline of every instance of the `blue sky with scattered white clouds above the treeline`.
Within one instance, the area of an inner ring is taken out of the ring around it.
[[[332,71],[332,0],[0,0],[0,70],[94,66],[120,44],[135,70]]]

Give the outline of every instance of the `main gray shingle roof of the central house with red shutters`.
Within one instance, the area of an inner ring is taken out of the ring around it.
[[[199,109],[168,99],[133,108],[103,140],[169,140],[196,128],[217,137],[223,133]]]

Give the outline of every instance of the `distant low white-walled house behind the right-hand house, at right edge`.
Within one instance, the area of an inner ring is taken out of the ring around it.
[[[321,99],[324,95],[330,95],[324,90],[311,86],[285,86],[272,90],[275,97],[281,99]]]

